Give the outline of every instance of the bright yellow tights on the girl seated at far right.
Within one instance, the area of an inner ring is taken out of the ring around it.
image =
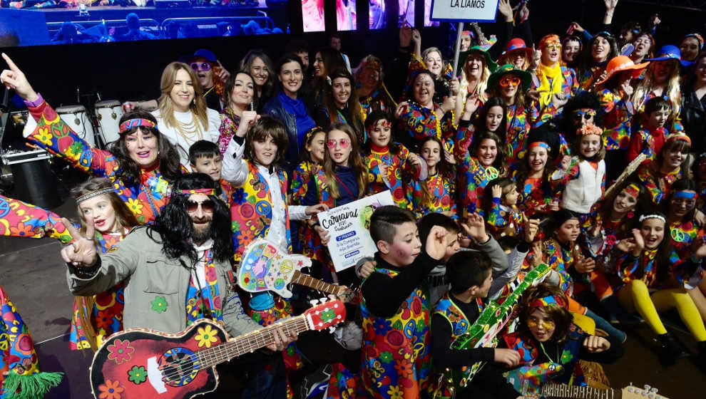
[[[706,328],[694,301],[685,289],[660,289],[650,295],[642,280],[633,280],[618,291],[618,299],[627,311],[638,311],[658,335],[667,333],[657,311],[677,308],[679,316],[696,341],[706,341]]]

